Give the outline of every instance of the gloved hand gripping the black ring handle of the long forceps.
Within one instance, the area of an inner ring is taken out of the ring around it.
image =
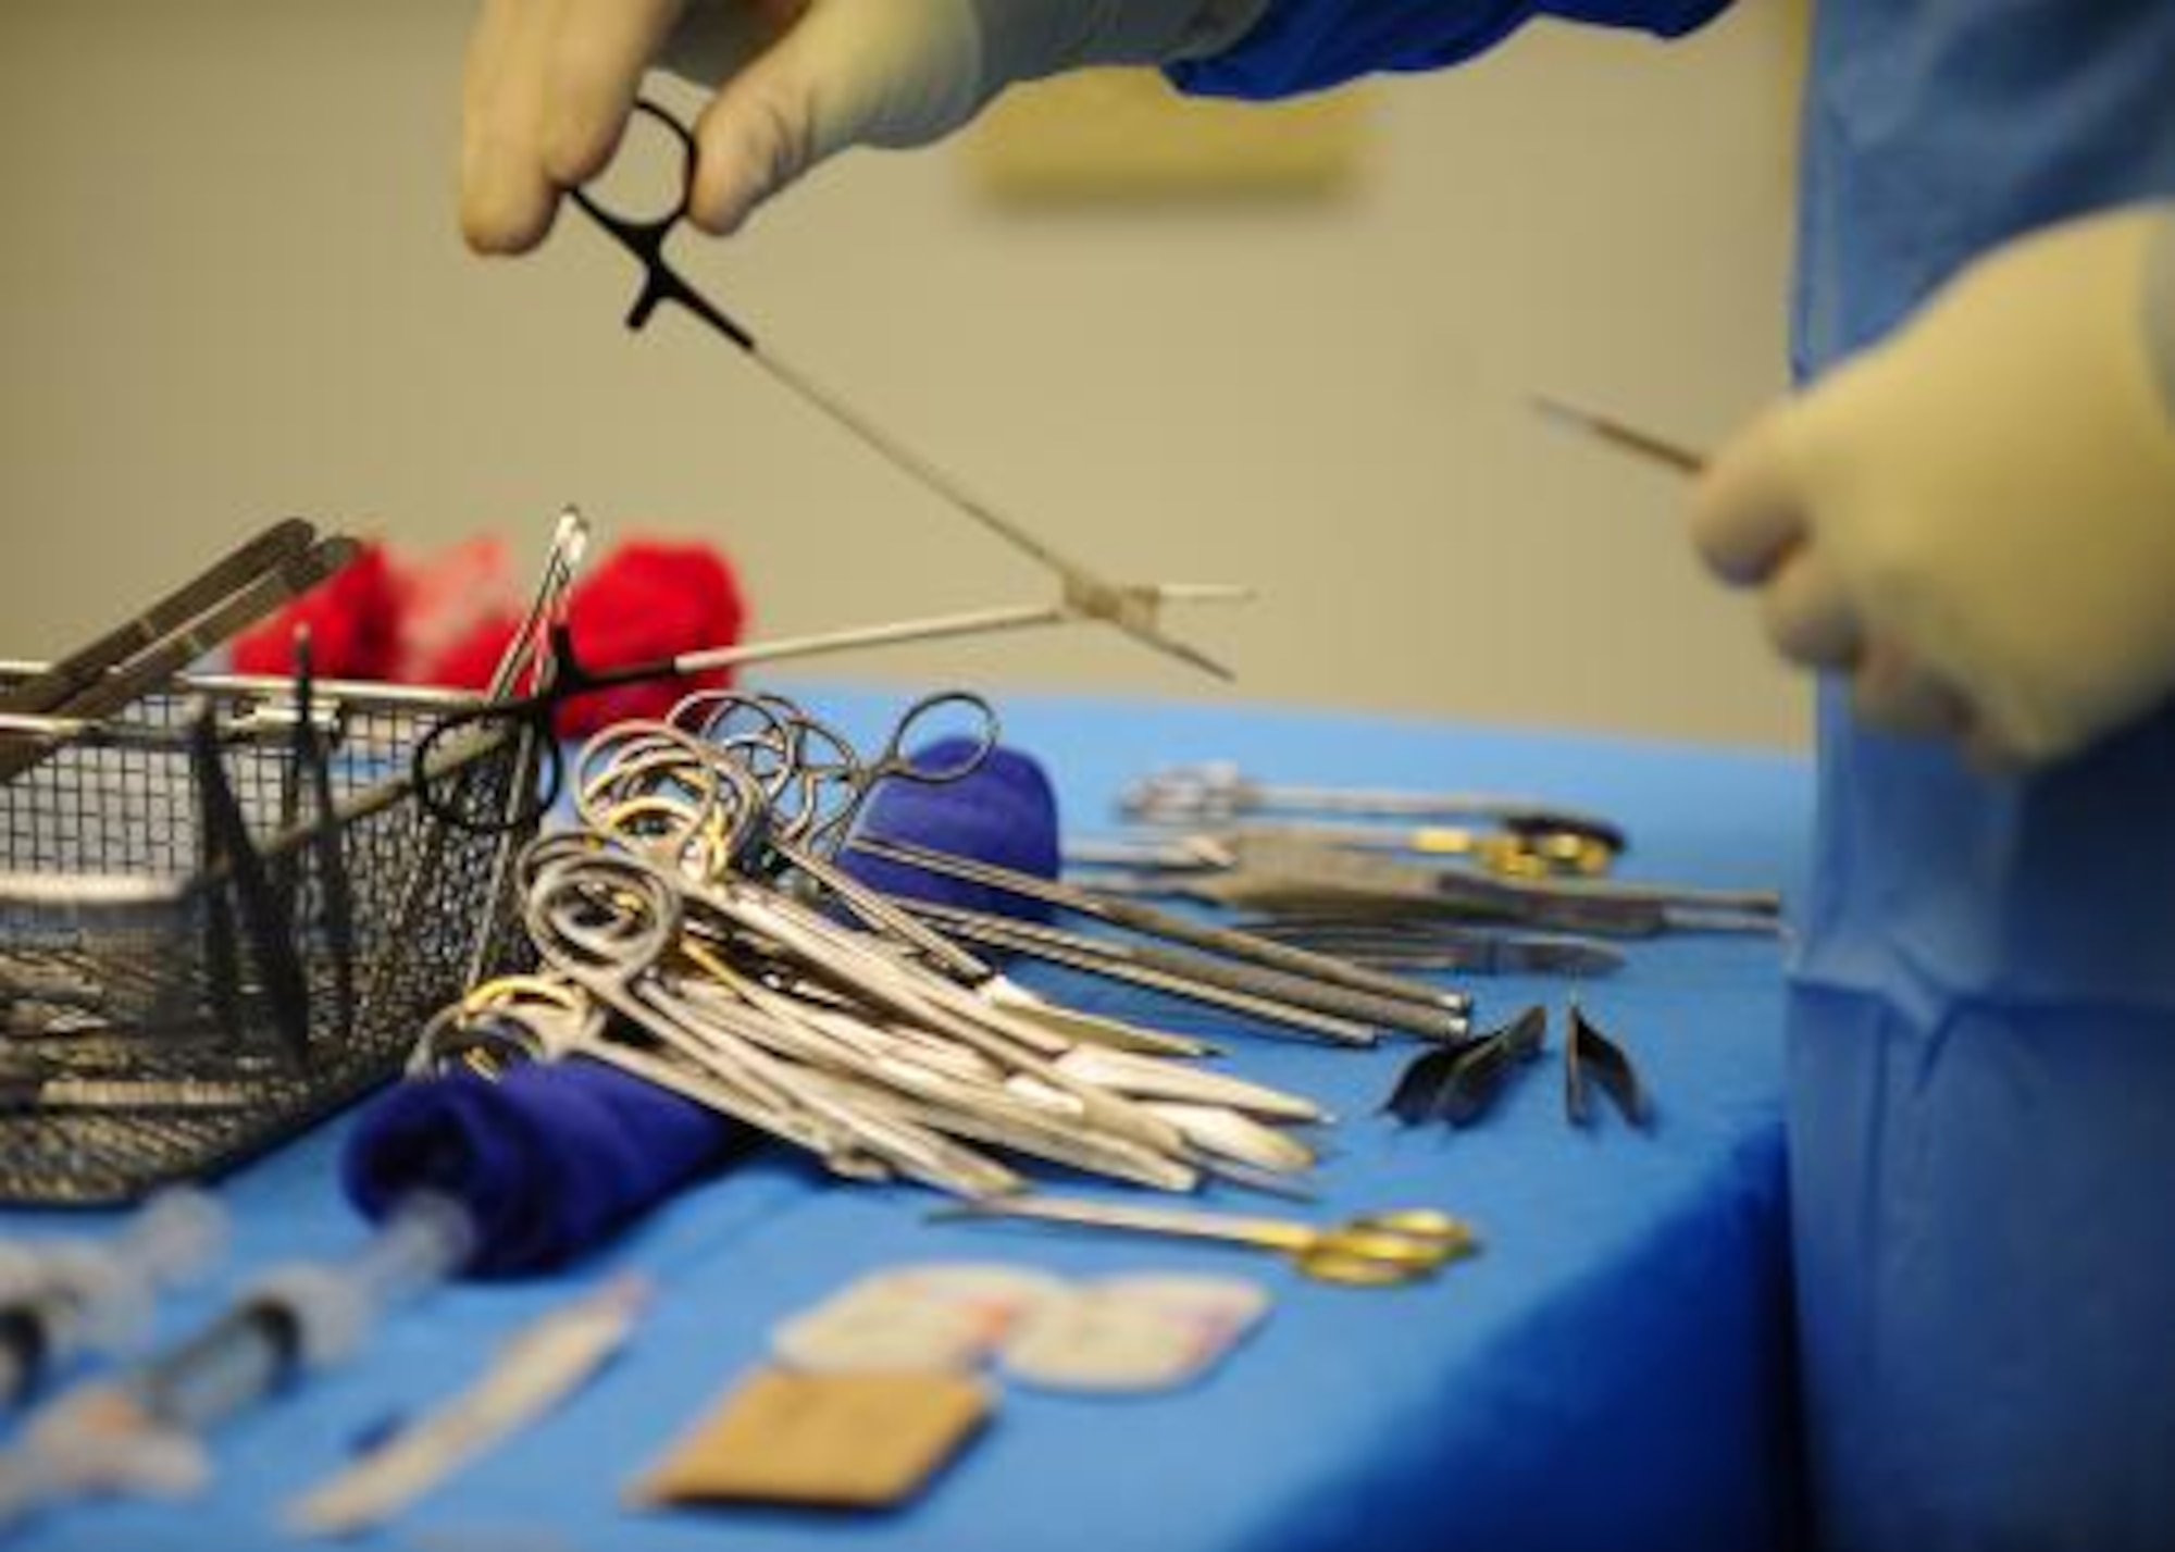
[[[1014,80],[1220,52],[1268,0],[485,0],[468,46],[461,226],[544,241],[561,189],[609,161],[663,63],[718,87],[692,220],[735,230],[846,146],[922,146]]]

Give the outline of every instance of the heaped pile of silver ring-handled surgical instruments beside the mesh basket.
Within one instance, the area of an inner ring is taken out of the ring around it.
[[[979,719],[972,759],[935,769],[907,754],[940,717]],[[961,776],[994,741],[994,713],[966,693],[916,702],[874,756],[798,704],[746,691],[703,691],[668,722],[607,728],[570,767],[579,824],[518,863],[539,972],[487,980],[446,1009],[418,1067],[489,1074],[587,1056],[807,1148],[842,1176],[990,1198],[1024,1185],[990,1150],[1164,1189],[1207,1174],[1275,1182],[1312,1165],[1290,1128],[1322,1113],[1190,1065],[1207,1052],[1196,1039],[1061,1009],[957,939],[1090,969],[1129,963],[1140,972],[1129,978],[1275,1009],[1340,1043],[1375,1039],[1377,1024],[1464,1030],[1455,993],[1303,950],[1194,928],[1194,952],[1109,948],[1088,963],[1103,950],[1079,946],[1109,939],[883,896],[842,865],[877,783]],[[911,843],[863,843],[977,869]],[[1153,930],[1157,913],[1122,906],[1129,926]],[[1325,965],[1342,982],[1318,974]]]

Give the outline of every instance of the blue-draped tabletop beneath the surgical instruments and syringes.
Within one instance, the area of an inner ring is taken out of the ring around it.
[[[874,728],[903,698],[803,683]],[[1633,837],[1625,876],[1699,885],[1799,878],[1801,761],[1668,743],[1501,733],[1259,706],[1007,698],[1007,743],[1057,778],[1066,824],[1105,828],[1114,791],[1153,765],[1235,761],[1272,780],[1507,789],[1596,809]],[[1405,1289],[1305,1282],[1242,1250],[998,1226],[929,1226],[911,1187],[826,1180],[766,1150],[683,1193],[587,1263],[542,1280],[461,1285],[398,1311],[348,1367],[217,1437],[209,1495],[54,1513],[17,1545],[289,1545],[281,1504],[374,1428],[465,1385],[496,1341],[574,1291],[639,1269],[659,1285],[631,1348],[576,1402],[359,1545],[676,1548],[1742,1548],[1775,1545],[1792,1506],[1792,1389],[1781,1167],[1779,946],[1677,935],[1579,987],[1636,1054],[1651,1132],[1614,1113],[1566,1126],[1538,1067],[1475,1128],[1377,1113],[1407,1043],[1327,1050],[1079,978],[1070,1000],[1214,1032],[1229,1065],[1316,1096],[1327,1132],[1309,1215],[1444,1206],[1481,1256]],[[1033,978],[1033,972],[1022,978]],[[1481,1015],[1559,1013],[1557,980],[1472,978]],[[1551,1028],[1551,1048],[1559,1035]],[[363,1239],[337,1189],[346,1122],[220,1185],[235,1213],[224,1280],[174,1298],[181,1332],[217,1291]],[[1070,1187],[1066,1187],[1070,1189]],[[1231,1189],[1218,1206],[1262,1209]],[[1266,1204],[1277,1206],[1277,1204]],[[0,1215],[0,1232],[96,1232],[111,1219]],[[1005,1261],[1094,1276],[1214,1269],[1259,1278],[1266,1322],[1203,1382],[1155,1398],[1003,1385],[985,1435],[913,1504],[881,1515],[644,1511],[629,1478],[763,1361],[768,1330],[898,1263]]]

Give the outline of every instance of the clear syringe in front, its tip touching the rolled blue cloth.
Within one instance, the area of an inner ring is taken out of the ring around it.
[[[0,1530],[91,1493],[200,1489],[220,1422],[350,1356],[387,1306],[448,1276],[470,1243],[459,1204],[409,1198],[355,1256],[278,1267],[174,1348],[57,1398],[0,1454]]]

